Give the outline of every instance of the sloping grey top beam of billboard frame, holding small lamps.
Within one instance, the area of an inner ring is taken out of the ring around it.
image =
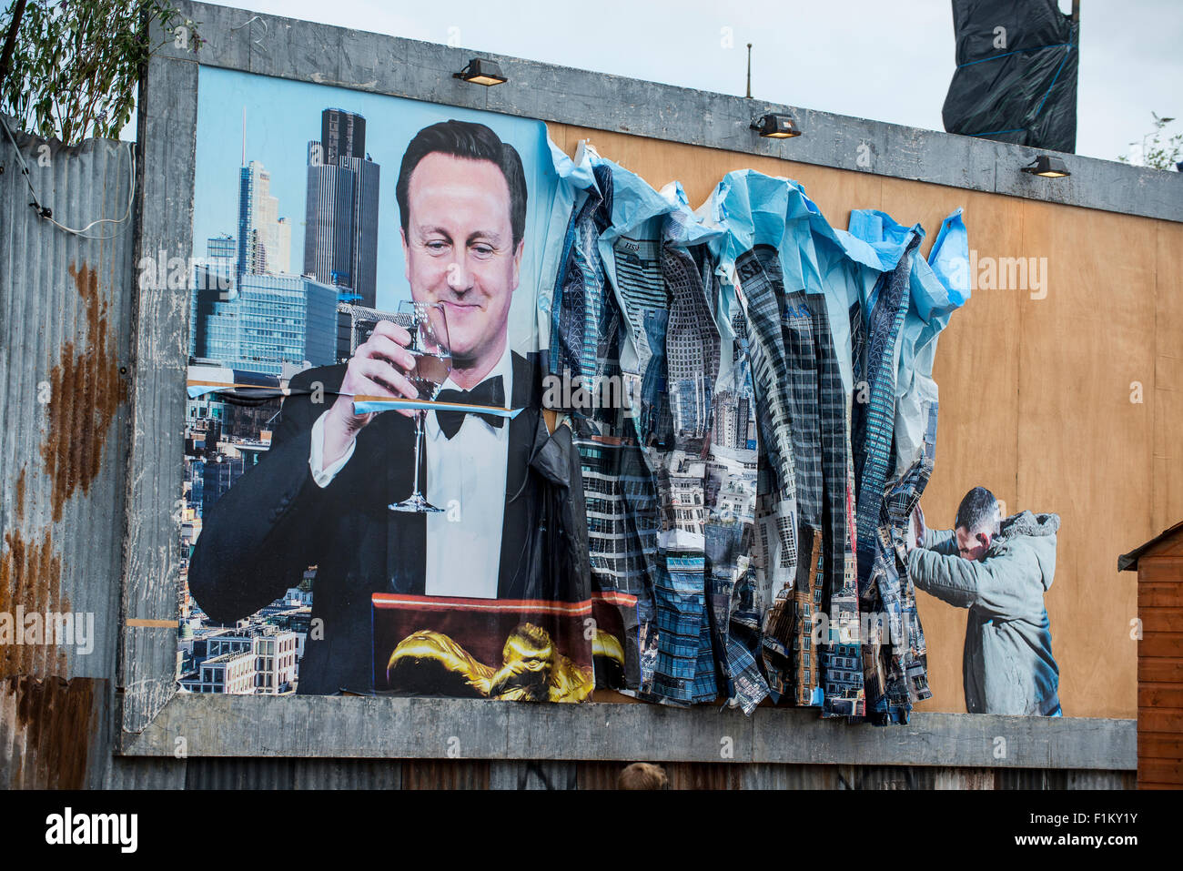
[[[1064,155],[1072,175],[1040,179],[1020,168],[1042,154],[1041,149],[225,6],[188,0],[179,6],[199,22],[208,41],[196,54],[169,43],[162,54],[208,66],[1183,221],[1183,173]],[[452,73],[473,56],[497,60],[509,82],[481,88],[453,79]],[[951,76],[951,66],[949,72]],[[793,140],[761,138],[749,124],[769,111],[790,112],[804,135]]]

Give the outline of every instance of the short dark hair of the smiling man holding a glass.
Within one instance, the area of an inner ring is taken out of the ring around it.
[[[411,211],[407,206],[411,174],[415,172],[419,161],[435,151],[466,160],[487,160],[502,170],[505,183],[510,188],[510,227],[513,232],[513,247],[517,249],[518,243],[525,236],[526,189],[522,157],[513,146],[502,142],[500,137],[490,128],[471,121],[440,121],[431,127],[425,127],[411,140],[411,144],[407,146],[407,150],[402,155],[402,166],[399,168],[399,183],[394,188],[395,199],[399,201],[402,232],[407,232],[411,218]]]

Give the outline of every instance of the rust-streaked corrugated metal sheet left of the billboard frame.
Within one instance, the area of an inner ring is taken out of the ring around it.
[[[0,134],[0,621],[12,633],[0,625],[0,786],[93,786],[118,638],[134,153],[13,137],[15,149]],[[54,226],[30,206],[30,182],[59,224],[110,222]]]

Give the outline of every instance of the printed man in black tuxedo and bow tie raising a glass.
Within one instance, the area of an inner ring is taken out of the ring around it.
[[[578,457],[565,427],[547,431],[535,361],[509,347],[522,160],[484,124],[433,124],[407,147],[396,199],[411,295],[441,303],[447,318],[452,393],[440,398],[523,411],[428,412],[420,475],[446,510],[395,512],[387,505],[413,486],[412,412],[355,414],[354,395],[418,395],[407,330],[380,322],[348,364],[292,379],[270,451],[203,518],[189,588],[213,620],[233,625],[317,566],[302,693],[371,688],[373,593],[587,596]]]

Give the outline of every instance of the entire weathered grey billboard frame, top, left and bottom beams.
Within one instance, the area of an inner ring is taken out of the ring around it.
[[[1183,221],[1183,176],[1163,180],[1156,170],[1066,155],[1072,176],[1048,185],[1019,172],[1039,149],[487,53],[479,54],[510,80],[480,88],[452,76],[478,52],[207,4],[180,8],[206,41],[194,53],[189,34],[177,32],[141,83],[137,263],[159,251],[192,252],[199,66]],[[758,137],[751,121],[765,112],[793,114],[806,135]],[[873,160],[860,160],[867,153]],[[744,717],[705,705],[177,693],[174,493],[183,467],[188,293],[141,288],[136,296],[118,753],[1134,769],[1133,720],[914,712],[907,727],[873,729],[788,708]]]

